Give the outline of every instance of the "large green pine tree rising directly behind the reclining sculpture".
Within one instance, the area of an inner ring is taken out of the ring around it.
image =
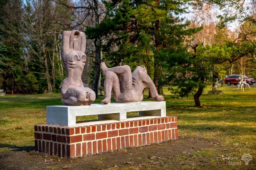
[[[112,1],[106,4],[106,18],[86,31],[92,36],[107,37],[104,51],[113,66],[145,64],[149,73],[154,72],[154,83],[162,93],[162,86],[169,80],[167,68],[175,63],[170,58],[179,53],[185,35],[199,30],[186,29],[189,23],[179,17],[185,13],[182,3],[185,2]]]

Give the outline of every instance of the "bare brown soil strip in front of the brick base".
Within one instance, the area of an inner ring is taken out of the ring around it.
[[[229,165],[218,141],[181,137],[175,141],[144,147],[84,156],[59,158],[32,150],[13,149],[0,155],[0,169],[256,169],[256,160],[248,166]],[[212,152],[212,150],[219,152]],[[240,158],[239,158],[240,160]],[[233,161],[234,162],[234,161]]]

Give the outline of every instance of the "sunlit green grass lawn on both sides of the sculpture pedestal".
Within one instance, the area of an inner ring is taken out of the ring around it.
[[[234,85],[221,87],[222,95],[207,94],[208,90],[200,97],[203,107],[198,108],[193,96],[176,99],[164,88],[167,115],[178,116],[179,136],[217,141],[230,154],[256,155],[256,86],[245,92]],[[33,146],[34,125],[45,124],[46,106],[62,105],[61,98],[60,94],[0,96],[0,152]],[[214,152],[218,150],[213,147],[205,154]]]

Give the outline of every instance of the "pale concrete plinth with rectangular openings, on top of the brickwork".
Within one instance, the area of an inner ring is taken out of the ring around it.
[[[91,104],[90,106],[47,106],[46,124],[76,126],[77,116],[98,115],[98,119],[125,121],[126,113],[139,111],[139,116],[166,116],[165,102]]]

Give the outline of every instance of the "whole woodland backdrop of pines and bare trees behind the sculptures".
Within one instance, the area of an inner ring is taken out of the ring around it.
[[[60,90],[64,30],[86,33],[82,80],[96,94],[103,60],[144,65],[158,93],[169,86],[181,97],[194,94],[196,106],[213,72],[232,73],[243,57],[256,64],[253,2],[4,0],[0,7],[0,87],[12,94]]]

